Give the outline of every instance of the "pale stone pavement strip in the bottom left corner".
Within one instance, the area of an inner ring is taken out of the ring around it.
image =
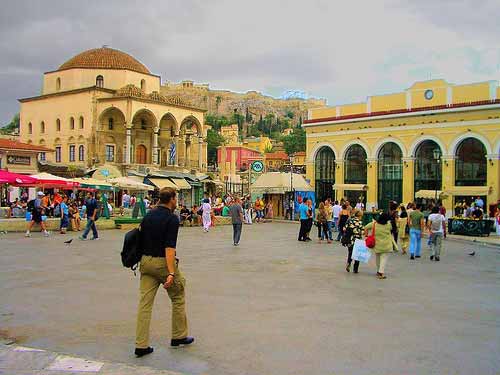
[[[1,341],[1,340],[0,340]],[[7,343],[9,340],[3,340]],[[0,343],[0,375],[181,375]]]

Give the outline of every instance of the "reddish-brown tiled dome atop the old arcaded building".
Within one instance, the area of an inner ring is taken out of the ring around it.
[[[127,69],[139,73],[151,74],[148,68],[125,52],[103,47],[89,49],[79,53],[62,64],[58,70],[72,68]]]

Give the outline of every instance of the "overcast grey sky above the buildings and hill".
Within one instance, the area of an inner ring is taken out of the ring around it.
[[[0,124],[43,72],[104,44],[162,81],[273,96],[297,89],[330,105],[500,76],[500,1],[3,1]]]

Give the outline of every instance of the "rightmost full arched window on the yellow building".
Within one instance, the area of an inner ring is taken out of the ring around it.
[[[486,147],[476,138],[466,138],[457,147],[456,186],[486,186]]]

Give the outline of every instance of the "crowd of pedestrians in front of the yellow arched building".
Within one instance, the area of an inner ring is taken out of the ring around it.
[[[382,212],[375,220],[363,225],[364,205],[358,202],[352,207],[350,202],[342,199],[332,202],[327,199],[320,202],[316,212],[313,212],[312,202],[307,199],[299,207],[300,229],[298,241],[312,241],[310,233],[313,225],[318,229],[319,243],[341,241],[347,247],[346,271],[351,271],[352,254],[357,239],[374,238],[372,252],[376,256],[377,277],[385,279],[385,266],[388,254],[401,251],[409,253],[410,260],[421,258],[422,238],[428,233],[430,260],[441,260],[443,238],[446,237],[446,212],[441,204],[430,208],[427,217],[422,212],[422,205],[414,202],[403,206],[390,202],[389,209]],[[354,259],[353,272],[358,273],[359,261]]]

